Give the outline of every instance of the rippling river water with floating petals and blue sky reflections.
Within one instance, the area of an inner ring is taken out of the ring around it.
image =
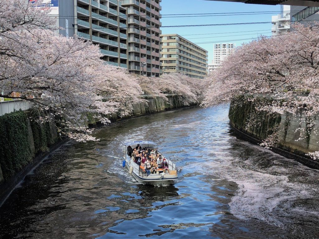
[[[0,208],[0,238],[317,238],[319,171],[236,138],[228,106],[123,120],[68,143]],[[167,187],[122,168],[127,140],[159,142]]]

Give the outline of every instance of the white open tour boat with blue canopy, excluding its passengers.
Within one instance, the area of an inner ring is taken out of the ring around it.
[[[168,169],[163,170],[159,168],[156,170],[156,173],[147,175],[144,167],[135,163],[134,158],[130,157],[128,154],[128,146],[131,146],[131,148],[134,149],[137,145],[141,146],[143,150],[148,150],[148,152],[151,152],[152,149],[154,151],[156,150],[157,153],[164,158],[163,154],[158,151],[158,144],[152,141],[130,141],[123,143],[125,148],[123,147],[124,161],[122,166],[129,170],[129,173],[135,178],[135,180],[140,183],[155,186],[174,184],[174,181],[178,178],[176,164],[165,158],[168,164]]]

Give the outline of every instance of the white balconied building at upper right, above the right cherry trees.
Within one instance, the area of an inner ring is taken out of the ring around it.
[[[290,5],[281,5],[280,11],[280,14],[271,16],[273,36],[286,34],[290,30]]]

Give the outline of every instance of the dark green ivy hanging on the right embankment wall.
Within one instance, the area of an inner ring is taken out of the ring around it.
[[[237,129],[254,134],[260,140],[264,140],[281,122],[281,115],[259,111],[256,108],[268,104],[271,100],[255,98],[254,101],[247,97],[238,96],[230,104],[229,120]]]

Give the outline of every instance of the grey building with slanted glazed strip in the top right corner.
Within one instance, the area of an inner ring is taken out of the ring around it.
[[[290,10],[292,22],[300,22],[307,25],[311,24],[313,21],[319,21],[319,7],[291,6]]]

